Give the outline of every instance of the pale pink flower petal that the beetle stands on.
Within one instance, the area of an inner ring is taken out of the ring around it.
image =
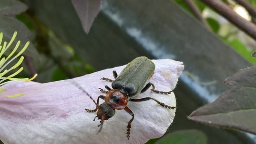
[[[153,62],[156,70],[149,81],[154,83],[157,90],[174,89],[184,69],[182,62],[170,59]],[[102,70],[74,80],[97,100],[98,95],[105,95],[98,90],[99,87],[111,87],[111,82],[100,78],[113,79],[112,71],[116,70],[119,74],[123,67]],[[135,118],[127,141],[127,123],[131,115],[124,110],[117,110],[112,118],[105,121],[102,131],[96,134],[100,124],[97,119],[93,121],[96,113],[84,111],[85,108],[94,109],[96,106],[70,80],[50,83],[12,82],[5,85],[5,88],[0,94],[24,93],[22,97],[16,98],[0,96],[0,139],[6,144],[145,143],[162,136],[175,116],[175,110],[166,109],[153,100],[129,102],[128,107]],[[136,98],[149,96],[176,106],[174,93],[162,95],[147,90]]]

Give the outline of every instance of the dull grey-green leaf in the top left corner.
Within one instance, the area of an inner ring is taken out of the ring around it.
[[[28,7],[18,0],[0,0],[0,15],[14,16],[27,9]]]

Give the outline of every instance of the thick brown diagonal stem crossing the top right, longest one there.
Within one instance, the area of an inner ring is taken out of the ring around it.
[[[256,26],[242,18],[235,11],[233,11],[230,7],[225,5],[225,3],[220,0],[201,0],[209,7],[213,8],[220,15],[224,16],[231,23],[236,25],[238,28],[242,29],[245,33],[250,35],[253,39],[256,40]]]

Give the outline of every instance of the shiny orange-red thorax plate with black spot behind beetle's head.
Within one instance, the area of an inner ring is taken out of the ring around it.
[[[115,110],[122,110],[126,107],[128,99],[119,90],[110,90],[105,97],[105,102]]]

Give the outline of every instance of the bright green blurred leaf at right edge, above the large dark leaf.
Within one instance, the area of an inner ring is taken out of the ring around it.
[[[253,57],[251,57],[251,52],[247,50],[247,47],[245,44],[243,44],[240,40],[238,39],[233,39],[231,41],[227,41],[227,43],[235,49],[236,52],[238,52],[240,55],[245,57],[245,59],[252,64],[256,64],[256,61]]]

